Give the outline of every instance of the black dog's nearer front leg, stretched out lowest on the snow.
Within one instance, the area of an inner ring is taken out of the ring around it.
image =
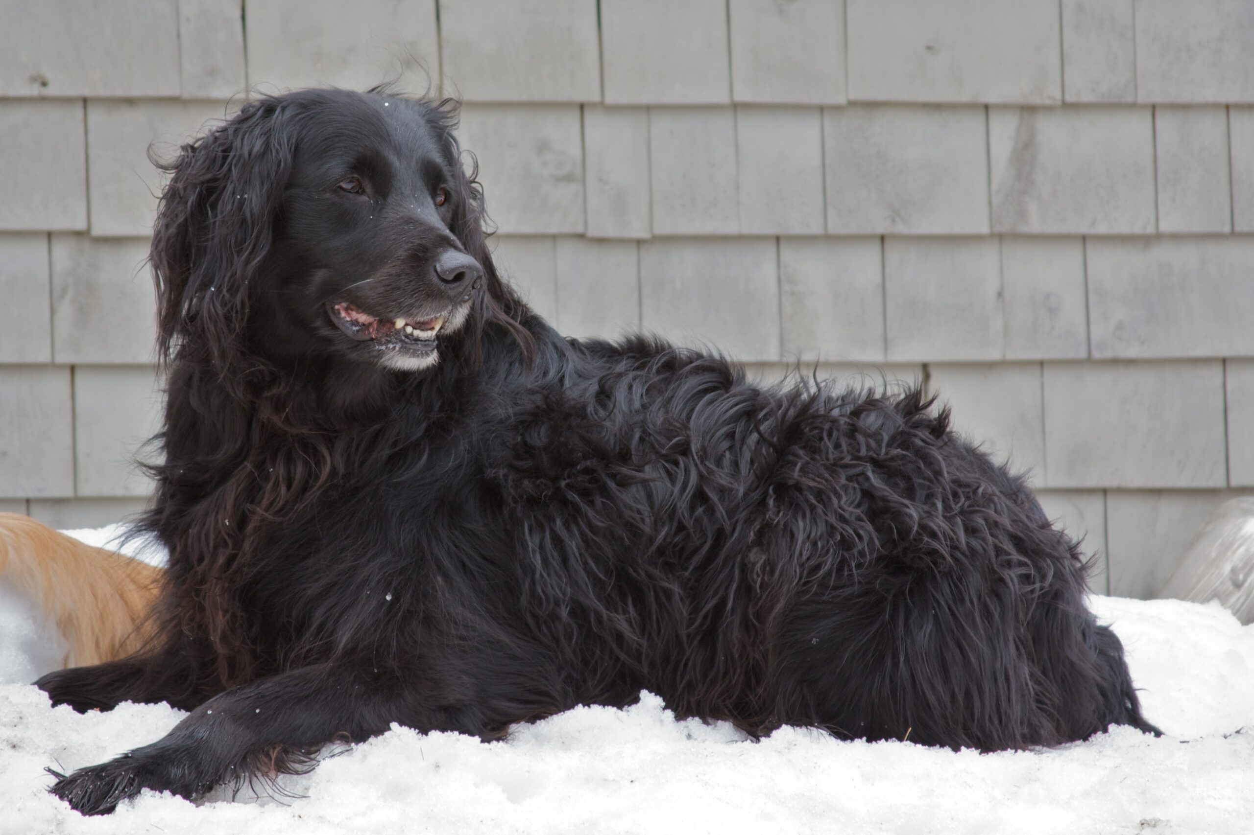
[[[470,713],[426,707],[428,701],[395,677],[334,664],[302,667],[214,696],[152,745],[55,775],[51,791],[78,811],[99,815],[143,789],[194,799],[232,779],[282,771],[331,740],[364,740],[391,722],[480,732],[469,727]]]

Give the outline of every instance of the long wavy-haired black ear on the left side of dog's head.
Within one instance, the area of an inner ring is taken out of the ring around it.
[[[153,160],[169,173],[149,252],[163,359],[183,341],[214,354],[242,342],[248,281],[270,251],[291,172],[290,123],[280,99],[262,98],[172,162]]]

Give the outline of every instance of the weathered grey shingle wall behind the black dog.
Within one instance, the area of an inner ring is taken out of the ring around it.
[[[1149,596],[1254,488],[1244,0],[0,0],[0,509],[134,509],[168,152],[246,85],[466,100],[573,335],[923,380]]]

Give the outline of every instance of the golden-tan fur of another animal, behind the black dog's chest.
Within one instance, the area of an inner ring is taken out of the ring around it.
[[[120,658],[144,639],[162,569],[0,513],[0,579],[28,594],[69,643],[66,667]]]

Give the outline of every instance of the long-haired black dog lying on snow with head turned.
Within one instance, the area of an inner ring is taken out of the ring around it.
[[[191,715],[58,796],[194,797],[391,722],[498,738],[646,688],[752,735],[1154,731],[1021,479],[918,391],[562,339],[493,267],[454,120],[306,90],[171,165],[159,637],[39,686]]]

